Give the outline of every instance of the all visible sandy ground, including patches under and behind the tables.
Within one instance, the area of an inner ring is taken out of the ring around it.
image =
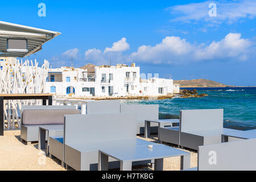
[[[143,137],[138,137],[145,139]],[[159,143],[156,135],[151,135],[147,139],[152,142]],[[167,143],[164,143],[167,144]],[[171,147],[171,144],[167,144]],[[197,153],[191,153],[191,167],[197,166]],[[164,171],[173,171],[180,169],[180,157],[164,159]],[[34,143],[30,146],[20,142],[20,131],[5,131],[5,136],[0,137],[0,171],[65,171],[60,166],[58,159],[44,157],[43,151],[38,150],[38,144]],[[72,170],[72,169],[69,169]],[[133,170],[152,170],[150,166],[133,167]]]

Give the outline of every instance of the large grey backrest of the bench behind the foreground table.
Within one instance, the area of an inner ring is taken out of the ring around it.
[[[136,138],[135,114],[65,115],[64,142],[86,143]]]

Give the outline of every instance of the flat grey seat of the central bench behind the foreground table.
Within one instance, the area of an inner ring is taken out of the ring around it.
[[[59,139],[60,140],[60,139]],[[86,143],[65,143],[67,146],[74,148],[80,152],[98,151],[100,148],[123,148],[131,146],[148,146],[155,145],[154,142],[148,142],[139,138],[122,139],[122,140],[108,140],[101,142],[86,142]]]

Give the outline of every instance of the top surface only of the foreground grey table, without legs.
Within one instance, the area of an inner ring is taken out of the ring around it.
[[[103,154],[109,155],[112,158],[121,161],[141,161],[150,159],[170,158],[174,156],[189,155],[188,152],[165,146],[163,144],[155,144],[153,148],[148,146],[132,146],[132,147],[118,147],[118,148],[100,148]]]

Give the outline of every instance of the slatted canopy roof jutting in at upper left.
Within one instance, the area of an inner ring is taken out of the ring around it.
[[[42,49],[44,43],[60,35],[60,32],[0,21],[0,57],[26,57]],[[26,39],[27,52],[7,51],[7,39]]]

